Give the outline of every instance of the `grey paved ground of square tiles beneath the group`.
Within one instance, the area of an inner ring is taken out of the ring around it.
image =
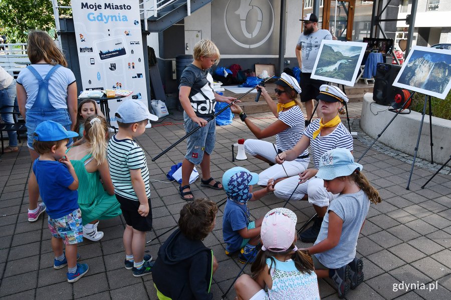
[[[360,107],[361,103],[350,103],[352,119],[358,120]],[[274,121],[269,113],[254,114],[252,117],[262,126]],[[167,181],[165,173],[172,164],[182,160],[185,152],[182,142],[156,163],[151,162],[151,157],[184,135],[180,121],[164,121],[176,124],[154,124],[138,138],[147,153],[151,178],[161,181]],[[357,131],[358,122],[353,121],[352,126],[353,131]],[[220,178],[225,170],[235,165],[257,172],[266,167],[265,163],[255,158],[231,162],[231,144],[240,137],[252,137],[238,118],[231,125],[216,128],[216,145],[211,161],[215,178]],[[354,141],[354,155],[360,157],[366,145],[358,139]],[[360,161],[366,176],[378,188],[383,202],[371,204],[357,245],[357,255],[364,257],[365,281],[357,289],[350,290],[346,298],[451,299],[451,176],[439,174],[425,189],[421,189],[420,186],[432,172],[415,167],[410,190],[406,190],[410,164],[393,158],[389,151],[387,153],[371,149]],[[66,281],[66,269],[53,269],[47,215],[34,223],[27,220],[26,183],[30,167],[26,146],[19,153],[3,155],[0,162],[0,297],[156,299],[151,275],[135,278],[131,271],[123,267],[121,235],[125,222],[122,217],[101,221],[99,227],[105,232],[105,237],[100,242],[85,241],[79,246],[82,262],[90,266],[84,278],[71,284]],[[178,196],[176,184],[153,181],[151,185],[154,231],[147,234],[148,239],[174,226],[184,204]],[[225,198],[223,191],[201,190],[199,181],[192,187],[196,197],[207,196],[217,202]],[[283,201],[274,195],[249,203],[254,217],[282,205]],[[314,213],[311,205],[303,201],[289,203],[287,207],[298,215],[298,227]],[[219,261],[211,289],[214,299],[221,299],[242,267],[237,260],[224,254],[221,231],[223,208],[219,208],[215,230],[204,240],[207,246],[213,248]],[[156,256],[160,244],[169,234],[150,242],[147,251]],[[298,246],[306,245],[298,243]],[[249,271],[248,266],[246,272]],[[418,288],[411,290],[409,287],[406,290],[404,287],[395,291],[394,287],[401,282],[414,283]],[[435,282],[438,285],[432,290],[420,289],[421,283],[429,288],[429,283]],[[337,298],[330,280],[321,279],[319,286],[323,299]],[[232,289],[227,298],[233,299],[234,296]]]

